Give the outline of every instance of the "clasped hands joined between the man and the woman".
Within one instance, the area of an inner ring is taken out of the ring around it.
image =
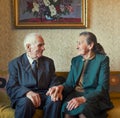
[[[64,87],[62,85],[53,86],[47,91],[46,95],[51,96],[51,100],[54,102],[58,100],[62,100],[63,88]]]

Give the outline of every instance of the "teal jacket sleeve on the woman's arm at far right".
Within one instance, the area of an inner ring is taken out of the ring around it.
[[[105,56],[102,60],[98,76],[98,85],[96,89],[91,90],[88,93],[85,93],[84,97],[89,99],[99,99],[104,95],[108,94],[109,90],[109,57]]]

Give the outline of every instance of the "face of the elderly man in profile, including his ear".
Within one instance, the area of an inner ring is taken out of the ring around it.
[[[28,55],[32,58],[32,59],[38,59],[39,57],[42,56],[43,51],[45,50],[45,43],[44,40],[41,36],[36,36],[36,42],[34,44],[30,45],[30,49],[28,52]]]

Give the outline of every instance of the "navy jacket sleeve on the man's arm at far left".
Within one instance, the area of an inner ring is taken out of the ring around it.
[[[9,79],[6,84],[7,93],[12,101],[25,96],[30,91],[19,83],[19,66],[16,61],[10,62],[8,66]]]

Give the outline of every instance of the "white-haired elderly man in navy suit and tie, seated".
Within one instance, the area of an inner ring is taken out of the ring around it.
[[[45,43],[40,34],[31,33],[24,39],[26,53],[9,63],[7,93],[15,109],[15,118],[32,118],[36,108],[44,110],[44,118],[58,118],[61,102],[46,96],[55,85],[52,59],[43,56]]]

